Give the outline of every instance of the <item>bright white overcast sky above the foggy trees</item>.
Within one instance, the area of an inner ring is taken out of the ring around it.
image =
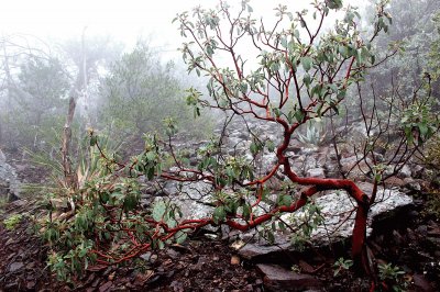
[[[241,0],[230,0],[240,5]],[[292,10],[309,7],[311,0],[252,0],[255,16],[273,18],[278,3]],[[345,0],[346,3],[358,2]],[[172,20],[196,5],[215,7],[218,0],[0,0],[0,33],[24,33],[42,38],[111,35],[131,47],[140,38],[151,41],[157,50],[175,56],[182,44]]]

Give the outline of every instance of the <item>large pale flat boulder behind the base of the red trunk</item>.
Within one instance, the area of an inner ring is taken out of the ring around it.
[[[367,194],[371,193],[372,184],[360,183],[359,187]],[[320,207],[323,223],[318,225],[311,233],[310,242],[316,246],[324,246],[343,242],[352,236],[354,217],[355,217],[355,202],[345,192],[332,192],[314,199],[315,203]],[[371,225],[374,220],[382,217],[389,217],[399,210],[411,205],[413,198],[394,189],[378,189],[376,202],[372,205],[369,214],[367,236],[371,235]],[[307,214],[300,210],[296,213],[284,214],[282,218],[287,223],[293,223],[295,220],[300,222],[301,217]],[[267,258],[279,258],[283,252],[296,251],[290,244],[290,236],[293,233],[287,231],[276,232],[276,245],[267,245],[264,240],[251,240],[248,245],[243,246],[238,252],[241,257],[248,260],[263,261]],[[298,250],[299,251],[299,250]]]

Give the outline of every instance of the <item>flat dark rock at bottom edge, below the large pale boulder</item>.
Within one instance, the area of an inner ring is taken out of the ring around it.
[[[257,265],[264,274],[264,287],[268,291],[304,291],[320,288],[321,281],[309,274],[296,273],[276,265]]]

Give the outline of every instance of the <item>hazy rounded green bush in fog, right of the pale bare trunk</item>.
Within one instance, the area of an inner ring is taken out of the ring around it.
[[[163,128],[163,120],[178,120],[182,127],[193,133],[204,133],[208,123],[197,123],[180,96],[180,82],[174,76],[174,65],[162,65],[157,54],[146,45],[138,46],[110,67],[100,86],[102,125],[121,141],[129,134],[142,136]],[[199,131],[199,132],[197,132]]]

